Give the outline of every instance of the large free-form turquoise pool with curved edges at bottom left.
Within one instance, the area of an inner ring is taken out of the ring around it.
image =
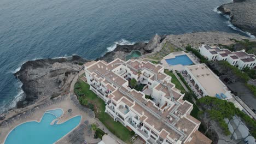
[[[7,139],[5,144],[17,144],[17,143],[26,143],[26,144],[52,144],[61,137],[65,136],[69,131],[72,131],[81,121],[81,116],[76,116],[68,121],[56,124],[56,122],[51,125],[56,119],[56,116],[62,115],[62,110],[56,109],[45,112],[43,118],[38,123],[36,121],[26,122],[18,127],[14,128]],[[52,114],[54,113],[54,115]],[[56,115],[56,116],[55,116]]]

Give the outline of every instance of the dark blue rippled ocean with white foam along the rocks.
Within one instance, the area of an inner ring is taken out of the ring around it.
[[[0,113],[22,95],[13,73],[37,58],[94,59],[154,34],[240,33],[214,11],[230,0],[1,0]],[[4,107],[4,108],[3,108]]]

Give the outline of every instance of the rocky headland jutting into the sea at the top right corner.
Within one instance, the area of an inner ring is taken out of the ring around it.
[[[235,0],[232,3],[221,5],[218,10],[222,14],[229,15],[234,26],[256,35],[255,0]]]

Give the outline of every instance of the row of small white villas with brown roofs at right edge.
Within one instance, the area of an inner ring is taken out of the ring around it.
[[[256,66],[255,55],[248,54],[245,50],[231,52],[228,49],[219,49],[219,47],[211,47],[209,45],[202,45],[199,47],[202,56],[206,57],[208,61],[227,61],[231,65],[243,68],[254,68]]]

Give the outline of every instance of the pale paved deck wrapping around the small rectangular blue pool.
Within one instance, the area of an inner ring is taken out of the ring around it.
[[[182,71],[185,69],[184,65],[182,64],[170,65],[166,62],[166,59],[175,58],[176,56],[181,56],[181,55],[187,55],[194,64],[199,64],[199,59],[197,57],[195,57],[192,53],[187,53],[184,51],[170,53],[169,55],[162,58],[161,63],[162,65],[164,65],[165,69]]]

